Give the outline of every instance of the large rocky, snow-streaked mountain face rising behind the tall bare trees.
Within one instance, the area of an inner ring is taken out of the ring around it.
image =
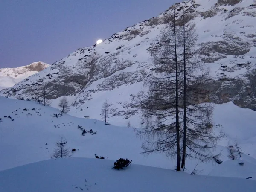
[[[165,26],[164,15],[188,9],[198,30],[198,44],[210,69],[210,95],[202,102],[233,101],[256,110],[256,0],[189,0],[176,3],[158,17],[127,27],[101,44],[76,50],[51,67],[2,90],[3,96],[42,96],[58,102],[69,96],[70,114],[99,119],[105,99],[116,125],[139,122],[133,99],[151,67],[150,49]],[[53,102],[54,105],[54,102]]]

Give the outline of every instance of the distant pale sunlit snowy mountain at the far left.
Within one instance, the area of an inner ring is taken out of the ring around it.
[[[32,64],[17,67],[17,68],[1,68],[0,69],[0,90],[14,86],[16,83],[28,78],[29,76],[38,73],[47,67],[49,64],[44,62],[34,62]]]

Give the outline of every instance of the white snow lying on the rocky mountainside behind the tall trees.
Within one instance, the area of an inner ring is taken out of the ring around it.
[[[247,74],[256,68],[255,58],[252,57],[256,53],[256,48],[253,45],[254,39],[247,37],[249,34],[255,34],[255,18],[246,16],[244,13],[255,10],[250,6],[254,1],[244,0],[234,6],[217,6],[215,5],[217,2],[217,0],[194,0],[182,2],[177,5],[177,8],[195,4],[200,5],[197,8],[193,8],[197,17],[192,20],[196,23],[198,30],[198,43],[224,41],[224,34],[232,34],[234,37],[241,38],[242,42],[250,43],[250,51],[242,56],[222,54],[226,58],[206,64],[210,69],[212,79],[216,81],[221,78],[248,81]],[[236,7],[243,9],[241,13],[227,18],[230,11]],[[225,12],[224,9],[227,11]],[[216,11],[217,15],[203,18],[201,12],[206,11]],[[161,18],[163,15],[164,13],[156,18]],[[109,103],[113,104],[112,109],[116,110],[109,119],[111,124],[126,126],[130,122],[132,126],[138,127],[141,123],[140,111],[136,111],[136,108],[131,107],[133,104],[132,96],[137,95],[143,89],[143,82],[137,81],[142,76],[139,72],[143,70],[148,72],[150,70],[152,61],[148,48],[151,47],[152,42],[154,42],[163,28],[163,24],[158,23],[155,26],[150,26],[150,22],[148,20],[129,26],[95,47],[78,49],[46,70],[30,76],[28,81],[22,81],[15,85],[13,87],[16,90],[15,93],[12,93],[12,90],[6,90],[0,94],[16,99],[20,96],[31,98],[40,95],[40,90],[43,90],[43,84],[55,84],[56,87],[61,87],[60,90],[64,88],[70,89],[67,93],[69,94],[70,103],[73,103],[69,112],[70,115],[77,117],[90,116],[92,119],[100,120],[101,107],[105,99],[107,99]],[[139,35],[131,34],[136,30],[140,31]],[[146,34],[145,32],[148,33]],[[142,33],[145,33],[145,35],[142,35]],[[229,41],[232,41],[232,39]],[[118,47],[120,49],[117,49]],[[109,52],[109,54],[105,52]],[[99,59],[95,63],[96,74],[90,73],[94,69],[87,66],[93,55],[99,55]],[[216,55],[220,56],[221,54],[216,53]],[[119,62],[116,63],[116,61]],[[125,61],[130,61],[132,65],[120,67]],[[250,64],[242,67],[238,66],[238,64],[245,63]],[[227,66],[226,71],[221,67],[223,65]],[[46,76],[48,74],[52,75],[52,77]],[[122,79],[122,74],[128,74],[128,77]],[[72,79],[76,79],[76,76],[78,78],[79,76],[85,77],[84,79],[86,80],[84,80],[83,86],[80,83],[71,82]],[[121,78],[119,78],[120,76]],[[88,79],[89,82],[86,82]],[[41,83],[38,84],[38,81]],[[67,87],[64,87],[64,85]],[[37,91],[31,89],[31,87]],[[74,91],[71,91],[72,89]],[[57,97],[63,94],[55,93],[58,92],[58,89],[49,92],[54,96],[57,95]],[[57,107],[59,99],[52,100],[53,107]],[[234,100],[234,98],[230,99]],[[125,112],[130,113],[130,115],[125,114]]]

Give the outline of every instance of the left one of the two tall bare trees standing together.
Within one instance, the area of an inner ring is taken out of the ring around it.
[[[180,27],[176,17],[175,12],[166,15],[167,28],[151,49],[154,68],[144,84],[148,94],[141,93],[139,97],[146,127],[137,129],[137,134],[146,140],[144,153],[166,152],[167,156],[176,157],[176,170],[180,171]]]

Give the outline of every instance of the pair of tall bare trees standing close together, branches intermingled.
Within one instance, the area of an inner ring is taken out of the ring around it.
[[[150,123],[137,130],[146,140],[144,153],[176,157],[177,171],[181,160],[185,169],[186,157],[201,161],[217,157],[212,153],[221,138],[212,129],[212,107],[204,103],[209,70],[201,62],[195,24],[186,24],[186,15],[180,16],[175,11],[165,15],[166,28],[151,49],[154,68],[145,78],[148,94],[139,96],[143,117]]]

